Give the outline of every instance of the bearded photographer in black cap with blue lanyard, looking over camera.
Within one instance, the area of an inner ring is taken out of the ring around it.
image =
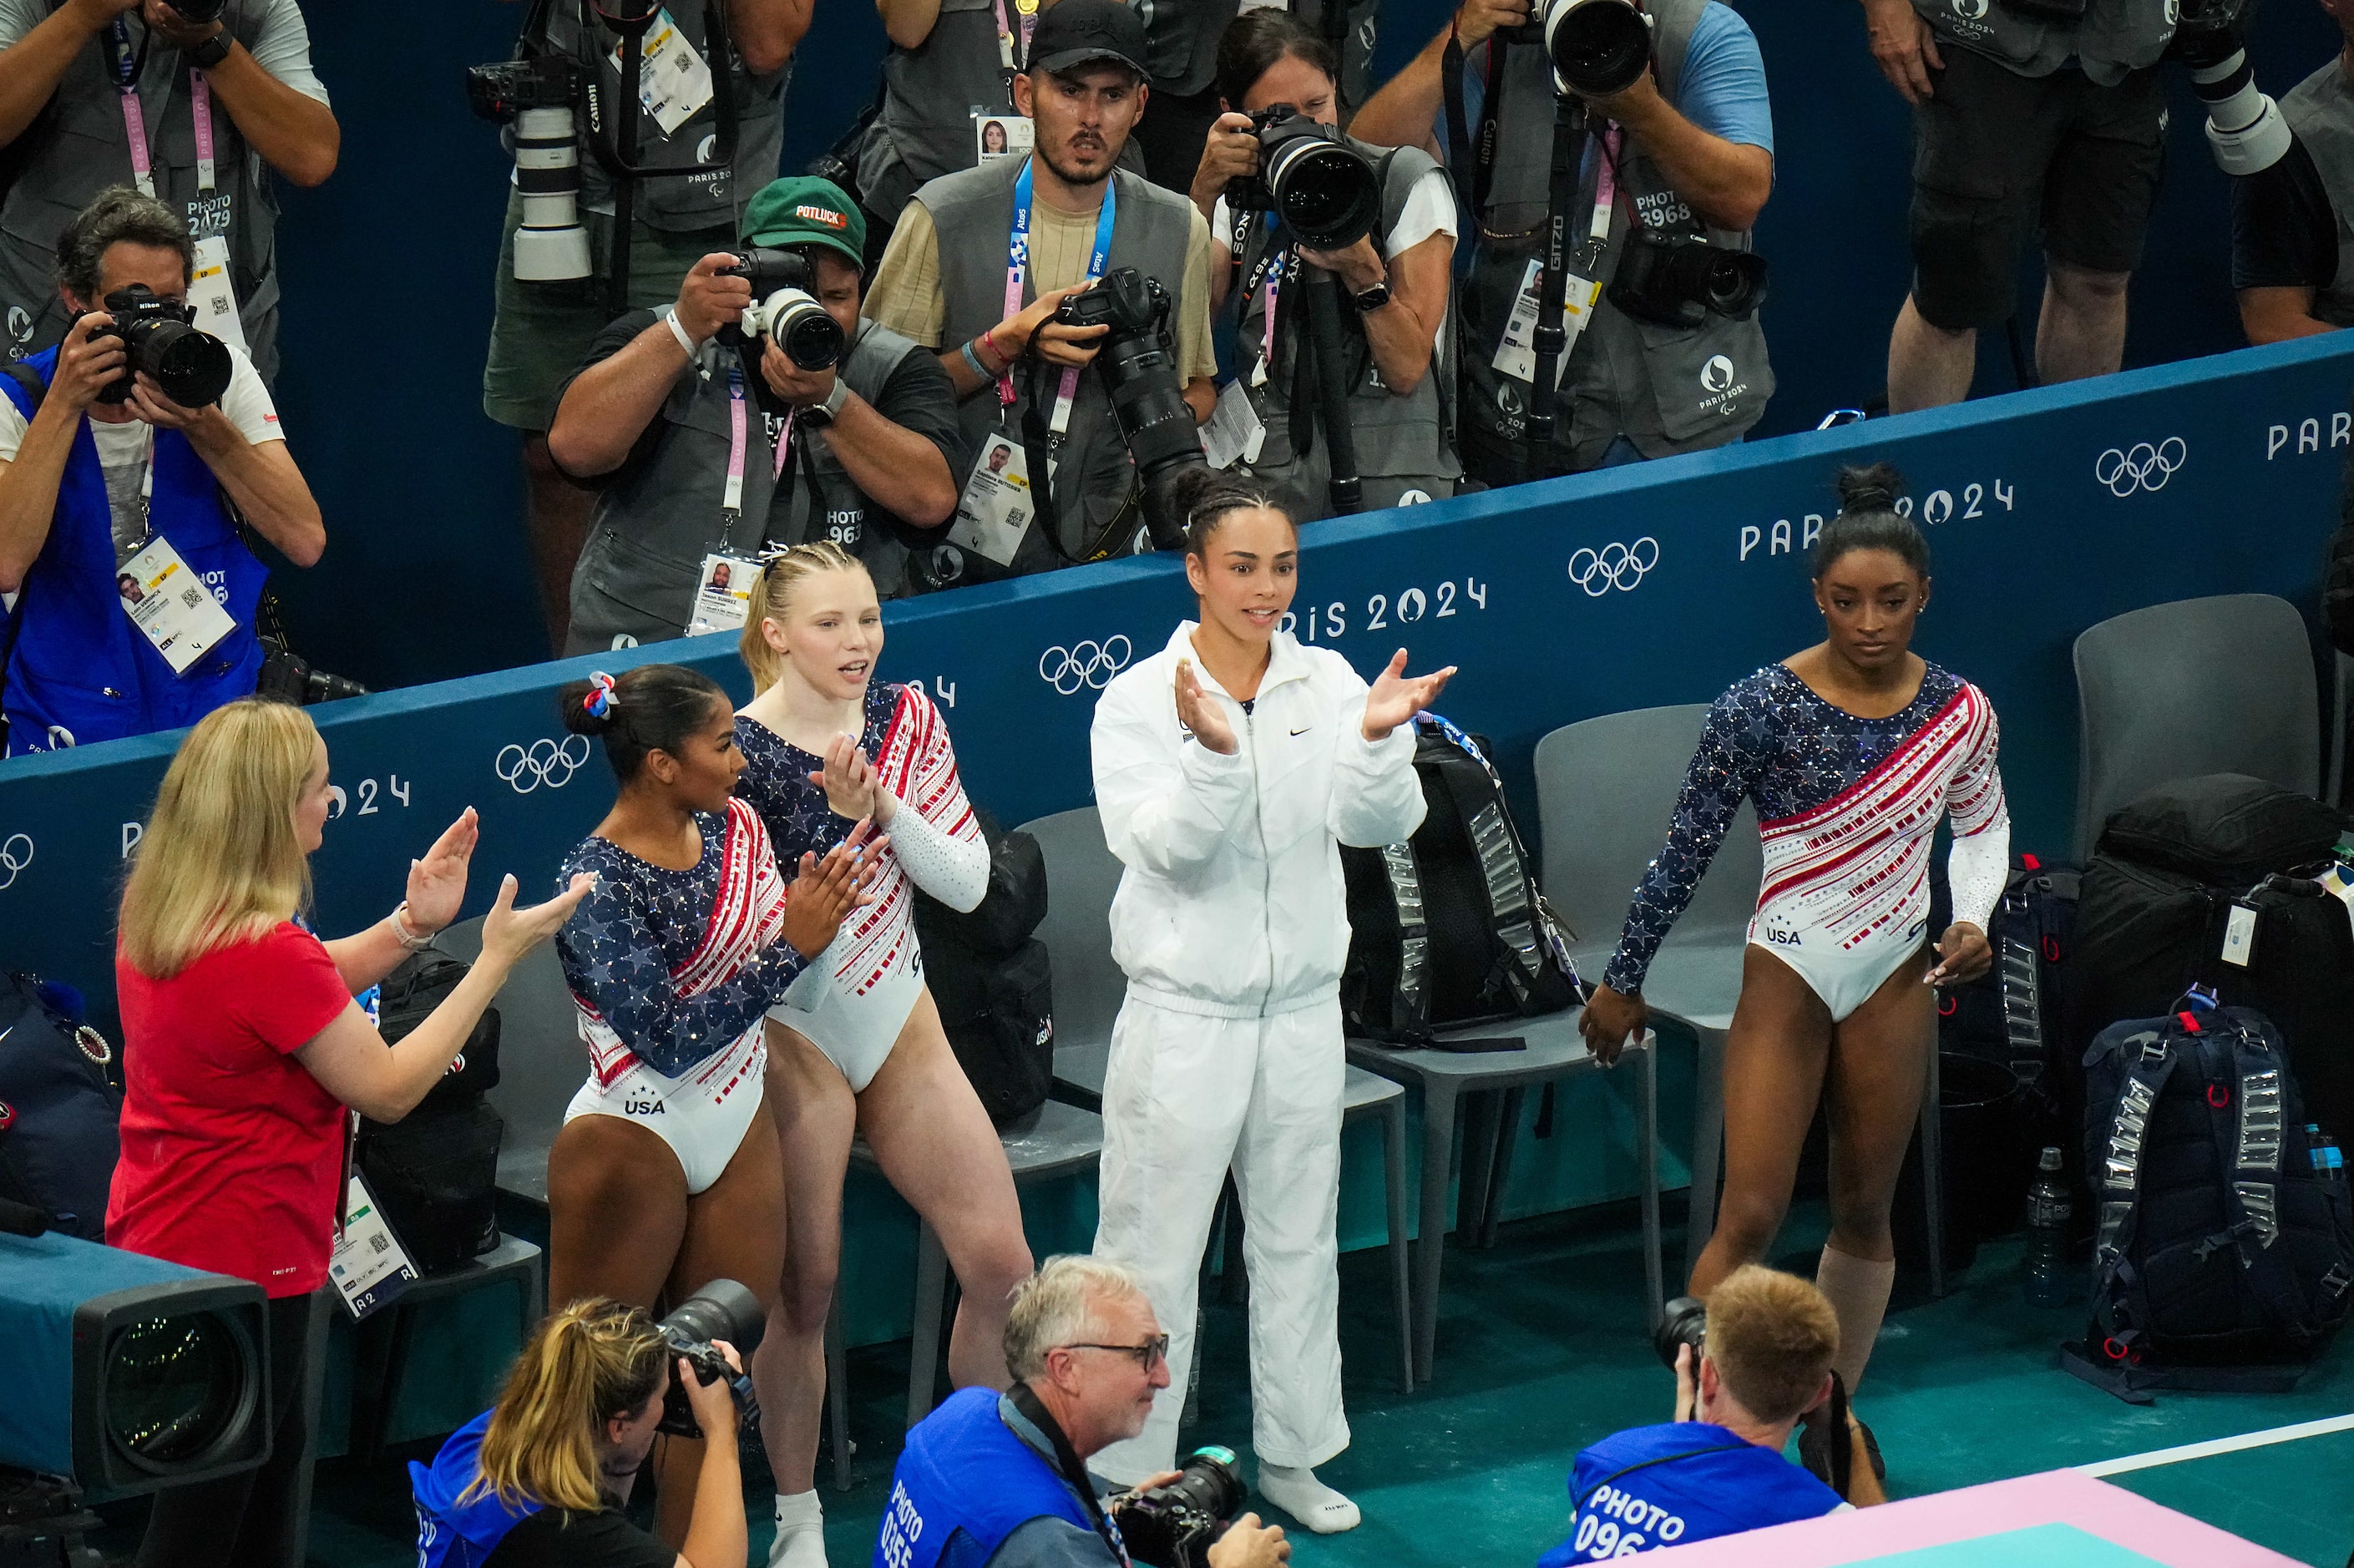
[[[1059,0],[1038,16],[1031,57],[1015,78],[1015,106],[1036,127],[1031,155],[918,191],[866,292],[866,315],[937,348],[956,384],[970,464],[958,509],[972,523],[949,537],[975,574],[1139,549],[1137,464],[1104,377],[1090,372],[1111,325],[1055,320],[1069,297],[1123,268],[1158,283],[1175,301],[1175,374],[1193,421],[1217,405],[1210,224],[1113,167],[1151,97],[1144,24],[1118,0]],[[1113,292],[1092,297],[1104,299]],[[1010,459],[993,471],[998,450]],[[1029,499],[1048,466],[1052,506],[1038,523],[1050,527],[1031,525]]]

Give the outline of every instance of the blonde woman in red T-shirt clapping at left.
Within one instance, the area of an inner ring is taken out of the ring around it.
[[[181,742],[122,888],[122,1163],[106,1241],[233,1274],[271,1297],[271,1460],[162,1493],[141,1568],[299,1566],[294,1479],[311,1293],[327,1281],[346,1107],[398,1121],[447,1071],[508,970],[556,935],[588,878],[516,909],[516,878],[483,921],[483,956],[440,1008],[386,1045],[358,991],[457,918],[473,808],[410,864],[407,899],[353,937],[294,923],[327,824],[327,744],[287,704],[245,699]]]

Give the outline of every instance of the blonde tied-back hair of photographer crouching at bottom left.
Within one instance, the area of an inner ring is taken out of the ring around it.
[[[553,1311],[506,1375],[483,1434],[483,1474],[461,1504],[497,1495],[593,1514],[605,1507],[598,1439],[661,1387],[664,1342],[643,1307],[586,1297]]]

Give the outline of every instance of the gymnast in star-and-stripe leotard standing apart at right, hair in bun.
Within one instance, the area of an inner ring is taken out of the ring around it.
[[[1766,883],[1725,1036],[1725,1196],[1690,1290],[1707,1297],[1766,1257],[1815,1104],[1827,1102],[1831,1238],[1817,1283],[1838,1311],[1836,1370],[1853,1389],[1895,1278],[1888,1208],[1921,1114],[1935,986],[1991,963],[1987,921],[2010,864],[2010,815],[1987,695],[1909,650],[1928,605],[1928,544],[1895,511],[1902,478],[1886,464],[1848,469],[1838,490],[1841,513],[1813,553],[1827,636],[1709,709],[1667,848],[1636,888],[1582,1029],[1603,1059],[1641,1029],[1660,939],[1740,803],[1754,800]],[[1940,819],[1954,829],[1954,923],[1933,961]]]

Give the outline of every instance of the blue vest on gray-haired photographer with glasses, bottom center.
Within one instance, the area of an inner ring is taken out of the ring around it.
[[[932,1568],[958,1530],[972,1537],[975,1561],[989,1561],[1040,1516],[1095,1530],[1055,1467],[998,1415],[998,1391],[960,1389],[906,1434],[873,1568]]]

